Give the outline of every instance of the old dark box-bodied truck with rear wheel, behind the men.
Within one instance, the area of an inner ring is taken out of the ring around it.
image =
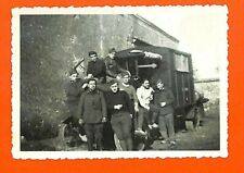
[[[116,61],[131,73],[137,88],[143,78],[152,86],[162,79],[175,96],[176,129],[196,128],[204,114],[203,99],[194,89],[193,66],[190,53],[165,47],[143,46],[118,51]]]

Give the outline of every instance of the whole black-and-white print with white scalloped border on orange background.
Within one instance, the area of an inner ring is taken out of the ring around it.
[[[228,156],[227,7],[12,14],[14,158]]]

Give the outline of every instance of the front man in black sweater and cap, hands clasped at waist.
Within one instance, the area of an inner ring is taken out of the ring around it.
[[[106,92],[107,109],[112,114],[111,124],[123,150],[132,150],[131,116],[132,107],[125,90],[119,90],[118,82],[110,82],[111,91]]]

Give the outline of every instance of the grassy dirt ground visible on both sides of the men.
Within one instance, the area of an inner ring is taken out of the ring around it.
[[[216,108],[206,112],[202,119],[201,126],[195,131],[179,131],[176,133],[176,146],[160,144],[160,140],[154,143],[146,150],[219,150],[220,149],[220,129],[219,129],[219,110]],[[81,144],[76,147],[69,147],[62,143],[60,137],[24,141],[22,150],[86,150],[87,145]]]

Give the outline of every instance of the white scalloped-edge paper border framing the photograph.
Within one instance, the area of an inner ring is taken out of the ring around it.
[[[221,8],[228,20],[226,5],[193,5]],[[223,60],[220,61],[220,150],[167,150],[167,151],[21,151],[21,33],[20,16],[25,14],[131,14],[147,8],[185,7],[88,7],[88,8],[16,8],[12,9],[12,156],[15,159],[127,159],[127,158],[226,158],[228,157],[228,39]],[[227,32],[228,32],[228,24]],[[228,36],[227,36],[228,37]]]

